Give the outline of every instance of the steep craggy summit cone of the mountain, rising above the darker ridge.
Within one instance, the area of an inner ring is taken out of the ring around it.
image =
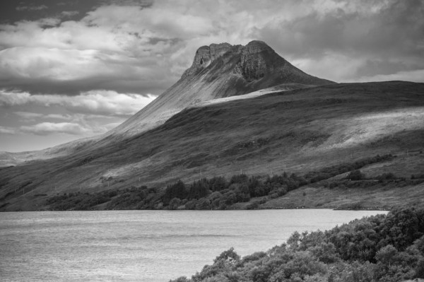
[[[280,57],[265,42],[212,44],[197,49],[182,77],[133,117],[113,129],[108,138],[139,134],[163,124],[173,114],[207,100],[243,95],[283,83],[334,83],[305,74]]]

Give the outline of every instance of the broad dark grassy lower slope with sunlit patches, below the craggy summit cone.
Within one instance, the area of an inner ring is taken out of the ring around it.
[[[0,170],[0,198],[17,190],[0,205],[37,209],[45,198],[35,194],[154,186],[177,177],[189,182],[240,170],[303,174],[378,153],[418,152],[424,147],[423,93],[423,83],[348,83],[191,108],[120,143]],[[418,157],[391,165],[387,170],[399,176],[424,171]]]

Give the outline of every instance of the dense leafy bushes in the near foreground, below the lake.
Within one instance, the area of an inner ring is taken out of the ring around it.
[[[228,249],[191,279],[171,282],[395,282],[424,278],[424,209],[404,208],[329,231],[293,233],[267,252]]]

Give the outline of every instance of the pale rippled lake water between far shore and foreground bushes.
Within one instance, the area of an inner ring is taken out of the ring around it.
[[[0,281],[169,281],[234,247],[245,256],[295,230],[384,211],[47,211],[0,213]]]

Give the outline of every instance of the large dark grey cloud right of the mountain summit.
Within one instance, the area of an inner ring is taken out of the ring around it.
[[[423,15],[424,1],[391,1],[375,13],[312,11],[265,26],[257,36],[295,56],[321,57],[329,51],[422,55]]]

